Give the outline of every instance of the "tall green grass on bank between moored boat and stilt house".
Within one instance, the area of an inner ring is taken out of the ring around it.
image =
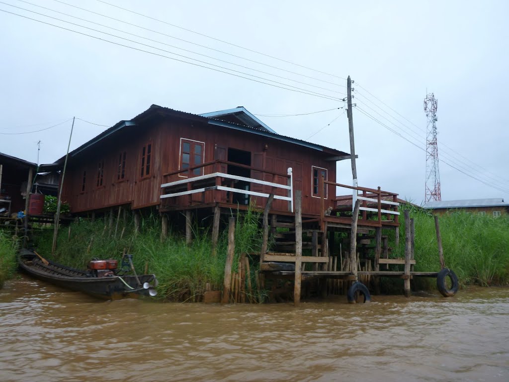
[[[235,256],[259,251],[261,230],[258,227],[259,213],[248,211],[239,214],[236,220]],[[224,264],[228,248],[228,227],[221,232],[216,256],[212,256],[212,242],[208,229],[194,228],[191,245],[185,243],[182,233],[169,232],[161,241],[161,223],[157,215],[142,217],[139,232],[134,234],[134,223],[127,219],[117,226],[109,227],[107,219],[77,221],[71,224],[70,236],[67,227],[61,227],[58,247],[52,257],[52,229],[40,228],[35,231],[35,247],[39,253],[54,261],[76,268],[84,268],[93,258],[114,258],[120,260],[124,250],[133,255],[138,273],[155,274],[159,281],[158,297],[171,301],[199,301],[207,283],[212,290],[222,289]],[[116,231],[116,232],[115,232]],[[258,262],[253,262],[251,276],[254,285]],[[238,261],[234,261],[234,269]],[[263,294],[257,292],[257,301]]]

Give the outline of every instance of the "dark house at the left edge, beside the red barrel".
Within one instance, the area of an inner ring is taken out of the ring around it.
[[[0,214],[25,209],[26,184],[37,164],[0,153]]]

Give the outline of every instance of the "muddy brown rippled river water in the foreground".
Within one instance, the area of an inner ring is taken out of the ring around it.
[[[277,305],[0,291],[1,381],[509,381],[509,289]]]

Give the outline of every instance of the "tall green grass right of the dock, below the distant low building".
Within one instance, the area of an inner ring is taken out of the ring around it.
[[[401,214],[400,246],[403,257],[405,224]],[[415,225],[415,270],[440,268],[433,215],[410,208]],[[462,285],[505,285],[509,283],[509,216],[447,213],[439,216],[445,266],[453,269]]]

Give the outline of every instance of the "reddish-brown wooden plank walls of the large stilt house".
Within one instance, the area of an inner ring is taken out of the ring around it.
[[[168,117],[143,120],[136,126],[124,127],[90,148],[70,157],[64,184],[64,199],[71,205],[72,212],[102,209],[106,207],[130,204],[132,209],[156,206],[160,204],[163,182],[180,179],[179,175],[164,176],[179,170],[181,159],[181,138],[204,143],[203,160],[228,159],[228,149],[237,149],[251,153],[251,167],[262,168],[286,174],[293,168],[294,189],[302,190],[302,213],[318,214],[320,199],[312,197],[312,166],[325,168],[328,180],[336,181],[335,161],[327,161],[330,152],[323,152],[284,142],[271,137],[263,137],[247,131],[223,126],[214,126],[206,121],[186,120]],[[150,175],[140,175],[142,150],[151,144]],[[118,180],[119,156],[126,152],[125,178]],[[97,186],[98,164],[104,160],[103,184]],[[208,166],[204,174],[226,172],[227,166]],[[86,172],[86,184],[82,190],[83,172]],[[274,181],[273,176],[251,171],[248,177]],[[284,177],[276,177],[277,183],[286,183]],[[271,187],[251,184],[251,190],[270,193]],[[333,191],[333,190],[332,190]],[[195,203],[227,202],[225,192],[210,191],[192,196]],[[278,189],[276,195],[286,196],[286,190]],[[329,200],[334,198],[330,192]],[[189,196],[166,199],[172,205],[187,205]],[[257,197],[252,197],[251,200]],[[218,199],[218,200],[216,200]],[[262,198],[264,199],[264,198]],[[332,203],[330,201],[330,203]],[[257,203],[264,205],[262,203]],[[288,211],[288,202],[274,200],[273,210]]]

